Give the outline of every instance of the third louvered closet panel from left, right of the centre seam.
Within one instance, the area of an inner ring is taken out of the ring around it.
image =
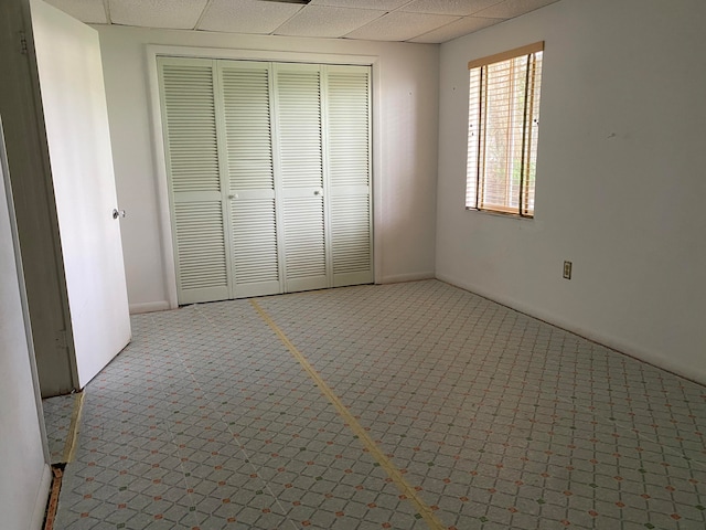
[[[285,289],[329,287],[324,233],[320,66],[275,64],[276,166]]]

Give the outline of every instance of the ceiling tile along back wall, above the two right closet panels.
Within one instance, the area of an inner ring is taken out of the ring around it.
[[[343,36],[362,25],[379,19],[385,11],[372,9],[332,8],[309,6],[275,31],[289,36]]]

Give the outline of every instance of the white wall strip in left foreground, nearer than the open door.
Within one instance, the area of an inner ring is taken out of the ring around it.
[[[4,157],[0,129],[0,162]],[[0,513],[2,528],[39,529],[50,485],[25,332],[14,227],[0,163]]]

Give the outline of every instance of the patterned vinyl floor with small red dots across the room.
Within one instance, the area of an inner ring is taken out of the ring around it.
[[[706,389],[443,283],[132,330],[57,529],[706,528]]]

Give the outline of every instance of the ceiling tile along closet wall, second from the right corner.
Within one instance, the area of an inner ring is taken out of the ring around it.
[[[454,20],[458,20],[458,17],[394,11],[363,28],[352,31],[345,36],[347,39],[371,41],[407,41]]]

